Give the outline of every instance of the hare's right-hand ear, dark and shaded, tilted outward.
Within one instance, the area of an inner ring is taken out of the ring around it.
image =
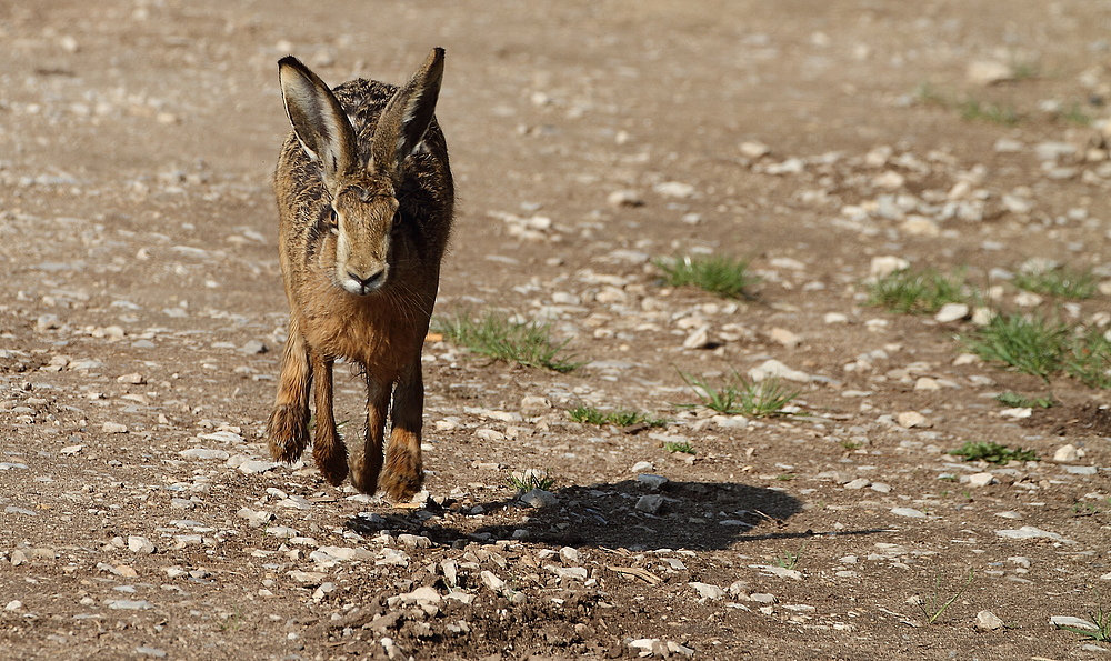
[[[412,80],[398,90],[382,110],[371,148],[373,171],[394,178],[400,176],[406,157],[417,149],[432,123],[442,79],[443,49],[433,48]]]

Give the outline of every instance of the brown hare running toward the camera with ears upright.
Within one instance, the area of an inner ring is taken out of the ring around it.
[[[267,423],[270,452],[293,462],[304,451],[311,387],[312,457],[323,478],[338,487],[350,470],[360,491],[381,487],[407,499],[423,481],[421,347],[454,204],[433,117],[443,49],[433,49],[400,89],[358,79],[329,90],[292,56],[278,72],[293,127],[274,173],[290,322]],[[332,414],[337,358],[357,364],[367,381],[363,448],[350,463]]]

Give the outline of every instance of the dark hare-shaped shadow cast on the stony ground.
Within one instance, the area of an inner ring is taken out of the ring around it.
[[[348,527],[363,534],[380,530],[422,534],[439,544],[516,539],[565,547],[631,551],[722,550],[745,541],[822,534],[790,525],[802,510],[797,498],[760,487],[722,482],[667,482],[653,488],[638,480],[557,490],[558,499],[530,507],[519,498],[487,502],[444,502],[414,512],[356,517]],[[468,515],[479,511],[481,518]],[[838,531],[871,534],[880,530]]]

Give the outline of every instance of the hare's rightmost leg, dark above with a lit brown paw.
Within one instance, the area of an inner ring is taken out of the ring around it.
[[[393,391],[390,418],[393,429],[386,449],[386,471],[382,489],[396,501],[408,500],[424,482],[421,465],[420,431],[424,412],[424,381],[420,355],[401,372]]]

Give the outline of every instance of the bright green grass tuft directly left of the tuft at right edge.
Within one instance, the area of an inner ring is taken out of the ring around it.
[[[1069,328],[1041,316],[997,314],[965,339],[968,349],[989,361],[1049,380],[1062,367]]]

